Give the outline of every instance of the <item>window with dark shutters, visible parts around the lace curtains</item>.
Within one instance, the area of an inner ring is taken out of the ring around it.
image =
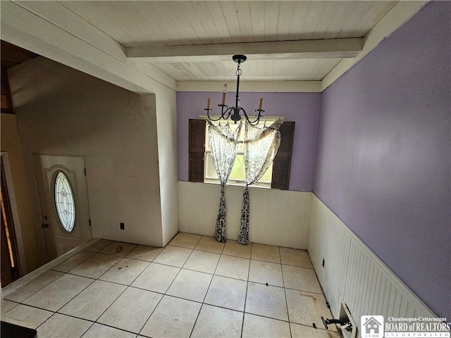
[[[271,123],[268,122],[268,123]],[[232,125],[232,124],[231,124]],[[234,124],[233,124],[234,125]],[[274,158],[272,168],[266,172],[259,181],[261,185],[288,189],[290,184],[290,167],[292,156],[292,142],[295,132],[294,122],[285,122],[280,126],[282,142]],[[211,154],[208,149],[207,128],[204,120],[190,119],[189,132],[189,180],[190,182],[218,182],[216,170],[212,163]],[[230,174],[229,182],[242,184],[245,181],[244,154],[238,152],[235,159],[233,172]],[[244,185],[244,184],[243,184]]]

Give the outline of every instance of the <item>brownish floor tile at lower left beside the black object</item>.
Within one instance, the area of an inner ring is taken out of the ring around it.
[[[53,312],[41,310],[40,308],[32,308],[31,306],[19,304],[8,311],[1,320],[35,329],[53,314]]]

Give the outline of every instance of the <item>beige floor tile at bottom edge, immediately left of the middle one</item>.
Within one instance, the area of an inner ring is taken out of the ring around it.
[[[190,337],[201,303],[163,296],[140,334],[149,337]]]

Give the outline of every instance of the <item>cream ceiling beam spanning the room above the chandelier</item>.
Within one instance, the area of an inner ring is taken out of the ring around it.
[[[353,58],[362,51],[363,41],[362,38],[350,38],[129,47],[125,54],[135,62],[228,61],[234,54],[245,54],[252,60]]]

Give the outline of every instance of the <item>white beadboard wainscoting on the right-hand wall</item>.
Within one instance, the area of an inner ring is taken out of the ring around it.
[[[362,315],[437,317],[314,194],[309,233],[311,262],[335,318],[340,315],[341,301],[357,325]]]

